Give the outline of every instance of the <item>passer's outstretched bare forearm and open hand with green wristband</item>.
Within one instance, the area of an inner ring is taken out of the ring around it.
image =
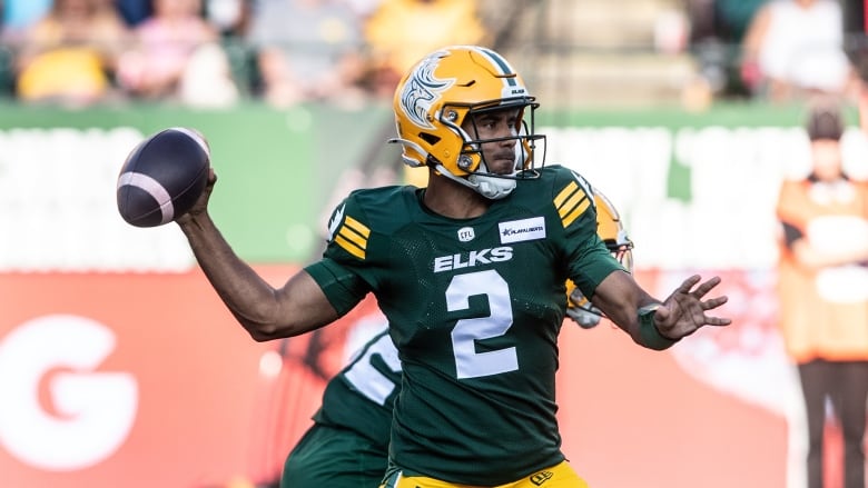
[[[720,283],[720,277],[701,283],[700,280],[700,276],[691,276],[661,302],[642,289],[631,275],[614,271],[600,282],[591,301],[637,343],[662,350],[704,326],[731,322],[728,318],[707,313],[727,302],[726,296],[706,299]]]

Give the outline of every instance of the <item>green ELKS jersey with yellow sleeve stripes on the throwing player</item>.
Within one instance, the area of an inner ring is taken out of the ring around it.
[[[467,485],[564,459],[555,412],[565,280],[586,297],[621,268],[596,235],[591,188],[549,166],[477,218],[428,210],[423,189],[357,190],[307,271],[338,312],[372,291],[403,367],[391,461]]]

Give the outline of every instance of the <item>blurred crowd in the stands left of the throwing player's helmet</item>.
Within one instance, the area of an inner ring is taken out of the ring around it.
[[[0,83],[23,102],[276,107],[391,96],[437,44],[484,43],[467,0],[0,0]],[[424,21],[420,21],[420,19]]]

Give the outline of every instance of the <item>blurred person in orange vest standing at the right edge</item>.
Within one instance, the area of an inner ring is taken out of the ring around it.
[[[807,412],[808,488],[823,486],[826,405],[844,434],[845,488],[865,488],[868,399],[868,185],[841,169],[837,109],[811,112],[812,171],[785,181],[778,289],[787,351]]]

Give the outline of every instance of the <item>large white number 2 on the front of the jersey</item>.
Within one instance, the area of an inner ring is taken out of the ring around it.
[[[452,329],[452,350],[458,379],[499,375],[519,369],[515,347],[477,352],[476,341],[503,336],[512,327],[512,300],[506,280],[497,271],[486,270],[458,275],[446,288],[446,309],[470,308],[468,298],[485,295],[491,313],[487,317],[461,319]]]

